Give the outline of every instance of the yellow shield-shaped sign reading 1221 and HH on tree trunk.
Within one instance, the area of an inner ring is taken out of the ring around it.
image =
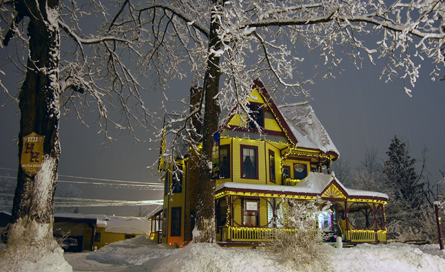
[[[25,174],[34,176],[42,167],[43,140],[45,136],[32,132],[23,137],[23,148],[21,149],[21,169]]]

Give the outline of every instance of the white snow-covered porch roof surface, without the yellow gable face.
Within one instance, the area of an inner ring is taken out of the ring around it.
[[[321,194],[322,191],[329,186],[331,181],[335,180],[340,187],[348,196],[353,197],[372,197],[372,198],[386,198],[388,196],[385,193],[378,193],[375,191],[363,191],[354,190],[344,187],[342,183],[335,178],[333,175],[327,175],[322,173],[309,172],[309,175],[302,181],[298,182],[295,186],[284,186],[284,185],[259,185],[259,184],[249,184],[249,183],[238,183],[238,182],[225,182],[216,188],[216,191],[223,188],[233,188],[233,189],[251,189],[258,191],[277,191],[283,193],[315,193]]]

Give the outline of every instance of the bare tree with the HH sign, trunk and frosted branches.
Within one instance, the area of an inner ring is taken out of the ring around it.
[[[126,129],[134,134],[132,124],[148,127],[152,113],[143,106],[137,72],[127,68],[132,63],[122,61],[125,54],[139,52],[134,39],[124,34],[113,36],[106,29],[94,34],[88,28],[91,32],[85,34],[87,38],[81,35],[83,18],[107,21],[109,9],[100,1],[78,6],[76,1],[3,0],[0,8],[3,45],[12,45],[10,62],[25,74],[19,94],[1,85],[19,102],[21,112],[21,166],[1,266],[8,271],[38,271],[43,256],[55,253],[61,261],[59,268],[54,264],[53,269],[70,270],[52,235],[60,155],[59,118],[72,110],[82,121],[83,109],[92,103],[105,139],[112,140],[107,129]],[[118,121],[109,115],[110,107],[120,109]],[[136,136],[134,140],[138,140]],[[38,145],[41,149],[37,149]]]

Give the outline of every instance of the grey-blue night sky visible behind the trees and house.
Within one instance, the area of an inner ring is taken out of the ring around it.
[[[1,56],[6,50],[1,48]],[[304,61],[299,72],[302,76],[313,76],[315,85],[310,89],[312,105],[315,114],[327,130],[333,143],[340,151],[340,156],[350,161],[350,165],[359,165],[363,160],[366,147],[376,147],[380,158],[386,159],[384,153],[393,136],[408,140],[411,157],[420,158],[421,150],[428,151],[427,167],[431,181],[442,178],[439,170],[445,169],[445,81],[431,81],[429,73],[432,70],[431,60],[426,59],[422,64],[420,79],[415,87],[409,86],[408,80],[393,78],[393,82],[379,81],[383,60],[375,60],[376,65],[364,61],[363,68],[357,70],[353,65],[342,63],[341,74],[336,70],[335,79],[322,80],[322,73],[327,67],[321,66],[317,70],[319,52],[304,53]],[[375,57],[376,58],[376,57]],[[374,58],[374,59],[375,59]],[[0,63],[4,63],[0,60]],[[6,76],[0,75],[1,83],[6,85],[12,94],[17,94],[14,85],[23,76],[12,71],[12,67],[3,66],[0,70]],[[442,72],[442,71],[441,71]],[[441,76],[445,74],[443,70]],[[167,93],[174,98],[186,98],[189,94],[191,78],[175,81],[170,85]],[[149,79],[146,80],[149,85]],[[267,82],[265,82],[267,84]],[[413,97],[404,92],[404,85],[413,90]],[[159,92],[146,94],[146,101],[150,108],[157,110],[163,96]],[[289,103],[299,102],[302,97],[289,99]],[[3,105],[6,101],[6,105]],[[170,102],[169,102],[170,103]],[[167,103],[168,104],[168,103]],[[14,139],[19,133],[18,103],[14,103],[6,94],[0,95],[0,176],[9,174],[16,176],[18,148]],[[171,103],[174,109],[173,103]],[[159,182],[159,176],[152,176],[147,166],[154,163],[158,156],[158,148],[154,143],[133,144],[132,138],[125,135],[112,134],[116,141],[101,146],[103,136],[97,134],[99,126],[94,124],[97,115],[85,112],[85,121],[90,127],[85,127],[71,116],[69,122],[66,116],[61,116],[60,138],[61,157],[59,175],[80,176],[87,178],[102,178],[112,180],[126,180],[138,182]],[[138,131],[142,140],[153,138],[152,131]],[[419,165],[420,166],[420,165]],[[76,180],[61,176],[59,180]],[[92,180],[93,182],[94,180]],[[340,180],[341,181],[341,180]],[[155,200],[161,199],[163,191],[149,191],[138,189],[98,188],[94,186],[79,186],[83,191],[82,198],[116,199],[116,200]],[[154,207],[152,207],[153,209]],[[133,207],[99,207],[81,208],[81,213],[106,213],[122,216],[134,215]]]

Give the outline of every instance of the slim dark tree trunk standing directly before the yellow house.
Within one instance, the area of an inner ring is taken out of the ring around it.
[[[219,28],[218,19],[214,14],[218,13],[223,5],[221,0],[211,0],[212,18],[209,35],[209,49],[218,51],[221,43],[216,34]],[[220,116],[220,104],[218,101],[218,88],[220,81],[219,56],[211,54],[207,61],[207,71],[204,78],[205,112],[203,123],[203,149],[199,167],[198,207],[196,208],[196,230],[198,236],[195,242],[216,242],[215,234],[215,180],[211,179],[211,149],[213,136],[218,130]]]

